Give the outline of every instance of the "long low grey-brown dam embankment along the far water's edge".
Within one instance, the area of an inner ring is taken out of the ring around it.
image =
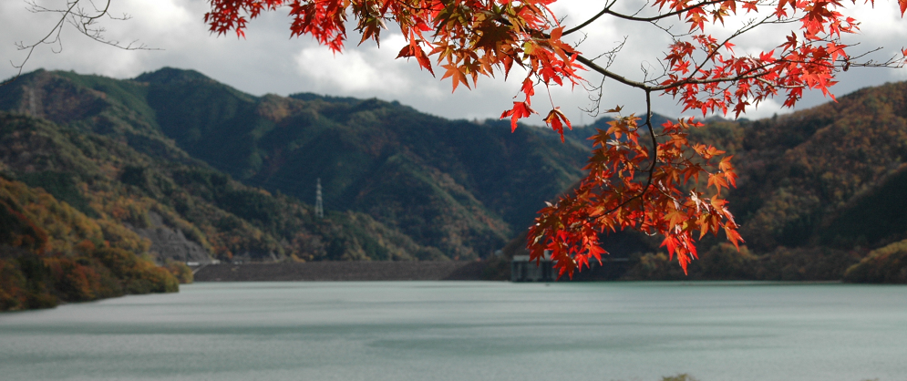
[[[482,262],[311,262],[210,264],[195,282],[479,281]]]

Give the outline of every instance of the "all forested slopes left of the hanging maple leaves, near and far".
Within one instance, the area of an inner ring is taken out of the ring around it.
[[[583,157],[538,130],[253,97],[169,68],[38,70],[0,88],[0,109],[0,310],[175,291],[187,261],[479,258]],[[299,201],[318,178],[325,218]]]

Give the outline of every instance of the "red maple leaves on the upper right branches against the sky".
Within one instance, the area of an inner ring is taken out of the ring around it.
[[[664,6],[666,0],[655,4]],[[751,30],[759,22],[741,28],[732,36],[719,41],[714,36],[695,34],[687,40],[678,40],[670,46],[665,61],[670,70],[660,83],[666,94],[680,98],[684,109],[699,109],[705,116],[716,110],[727,114],[733,108],[735,117],[748,106],[772,98],[779,90],[787,92],[784,106],[793,107],[802,97],[804,88],[815,88],[834,98],[829,88],[836,82],[840,67],[849,68],[850,56],[841,43],[841,34],[852,34],[858,23],[834,9],[840,2],[780,0],[777,3],[742,2],[745,14],[759,13],[760,7],[772,12],[761,22],[791,22],[799,20],[801,34],[792,31],[786,41],[776,49],[758,56],[736,56],[730,42],[739,34]],[[679,6],[675,3],[673,7]],[[790,9],[786,7],[790,5]],[[902,5],[907,1],[902,0]],[[722,2],[712,12],[713,22],[723,16],[737,13],[737,2]],[[797,17],[792,14],[801,13]],[[702,8],[688,10],[685,14],[690,32],[706,30],[706,15]],[[722,53],[724,52],[724,53]],[[696,54],[704,57],[696,57]]]

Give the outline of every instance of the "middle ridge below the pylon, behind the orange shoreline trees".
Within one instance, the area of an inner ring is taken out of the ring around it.
[[[0,162],[10,179],[132,231],[159,228],[152,220],[161,220],[199,243],[206,257],[442,257],[364,215],[333,213],[316,219],[308,205],[242,185],[201,162],[157,160],[117,139],[22,115],[0,114],[0,127]],[[139,246],[131,249],[142,252]],[[186,260],[158,254],[161,262]]]

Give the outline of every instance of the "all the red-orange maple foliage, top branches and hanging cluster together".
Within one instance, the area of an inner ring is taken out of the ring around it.
[[[900,67],[907,57],[904,49],[887,62],[861,61],[860,53],[851,52],[854,46],[842,41],[842,36],[856,33],[860,24],[845,15],[847,3],[837,0],[656,0],[634,14],[622,14],[612,1],[575,26],[564,25],[555,15],[553,0],[210,3],[205,21],[212,33],[244,36],[249,19],[285,7],[293,20],[292,36],[313,36],[335,52],[345,46],[349,17],[361,34],[360,44],[369,39],[378,43],[387,24],[396,24],[407,41],[398,57],[415,58],[432,75],[440,68],[438,73],[443,73],[442,79],[451,78],[454,90],[460,85],[477,86],[479,77],[509,77],[513,67],[520,67],[525,73],[520,96],[501,115],[510,118],[512,129],[521,118],[537,113],[532,104],[537,89],[547,93],[551,86],[589,85],[589,76],[640,90],[649,108],[655,93],[674,97],[685,110],[704,116],[718,112],[739,116],[768,98],[784,98],[784,105],[792,107],[806,89],[818,89],[833,98],[830,87],[841,70]],[[898,5],[903,15],[907,0],[899,0]],[[571,43],[568,36],[607,18],[655,26],[669,34],[673,42],[666,46],[664,57],[656,57],[663,72],[634,80],[597,62],[613,57],[617,50],[587,57],[582,46]],[[725,26],[732,19],[739,26],[728,32]],[[796,29],[768,51],[735,50],[738,36],[778,27]],[[571,122],[553,103],[544,120],[562,133],[564,127],[571,128]],[[588,176],[571,195],[541,210],[531,227],[533,259],[551,251],[561,274],[572,275],[606,253],[599,245],[602,233],[634,229],[663,236],[663,245],[685,270],[696,258],[696,240],[707,233],[723,233],[734,245],[742,242],[722,198],[722,190],[735,186],[730,158],[686,139],[688,129],[697,126],[694,120],[653,126],[650,118],[651,109],[641,117],[619,116],[609,129],[593,137]]]

